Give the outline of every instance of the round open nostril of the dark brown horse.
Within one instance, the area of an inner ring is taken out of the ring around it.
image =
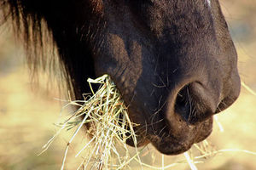
[[[174,109],[184,121],[194,124],[212,116],[217,109],[216,103],[207,89],[200,83],[192,82],[177,93]]]

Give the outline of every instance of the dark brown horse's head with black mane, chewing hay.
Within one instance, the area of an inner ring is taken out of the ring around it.
[[[137,146],[151,143],[166,155],[189,150],[240,94],[236,48],[218,0],[0,3],[3,20],[12,20],[32,52],[33,71],[59,62],[73,99],[89,92],[87,77],[112,78],[138,125]],[[46,37],[56,58],[38,53]]]

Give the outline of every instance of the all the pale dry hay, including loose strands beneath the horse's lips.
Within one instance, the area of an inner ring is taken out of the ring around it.
[[[83,155],[83,161],[77,169],[127,169],[131,161],[137,161],[141,169],[149,167],[150,169],[163,170],[186,163],[189,164],[192,170],[196,170],[195,164],[204,162],[201,159],[205,160],[218,153],[241,151],[255,155],[254,152],[247,150],[212,150],[212,145],[208,144],[207,140],[204,140],[201,144],[194,144],[192,149],[200,152],[200,156],[193,156],[194,151],[189,150],[183,154],[184,160],[167,166],[165,166],[164,155],[162,155],[161,167],[154,167],[143,163],[140,159],[140,153],[144,148],[139,150],[135,147],[136,151],[133,155],[128,150],[127,139],[132,139],[134,144],[137,145],[133,127],[138,125],[131,122],[124,101],[121,99],[119,91],[110,80],[110,77],[104,75],[95,80],[89,78],[88,82],[92,95],[84,94],[84,100],[68,100],[68,104],[64,106],[64,109],[70,105],[76,105],[79,109],[68,116],[66,121],[56,124],[60,129],[43,147],[42,153],[49,148],[49,145],[52,144],[63,129],[75,129],[73,136],[67,142],[61,170],[65,167],[70,144],[86,123],[90,123],[90,128],[86,129],[87,134],[90,136],[90,141],[76,154],[76,157],[85,154],[85,156]],[[92,83],[100,84],[100,88],[96,92],[92,89]],[[215,116],[215,120],[220,131],[223,132],[224,130],[220,122],[218,122],[218,117]]]

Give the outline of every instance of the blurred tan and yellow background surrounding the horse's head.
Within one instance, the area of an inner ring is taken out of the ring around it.
[[[221,0],[230,33],[239,56],[241,80],[256,91],[256,1]],[[16,42],[10,26],[0,28],[0,170],[60,169],[69,133],[61,134],[38,156],[42,146],[56,132],[54,123],[61,111],[61,95],[55,81],[42,73],[39,82],[31,80],[26,67],[22,44]],[[228,110],[218,115],[218,124],[207,140],[209,150],[225,150],[197,164],[199,169],[256,169],[256,156],[237,150],[256,152],[256,96],[241,88],[240,98]],[[85,142],[83,134],[76,143]],[[67,169],[75,169],[81,158],[74,158],[79,146],[72,144]],[[143,161],[160,166],[161,155],[151,146]],[[164,156],[165,165],[183,160],[184,156]],[[134,169],[137,169],[134,167]],[[147,168],[146,168],[147,169]],[[150,169],[150,168],[148,168]],[[171,169],[171,168],[170,168]],[[172,169],[189,169],[178,164]]]

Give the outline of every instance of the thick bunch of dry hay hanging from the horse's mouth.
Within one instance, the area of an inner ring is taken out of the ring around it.
[[[65,122],[57,124],[60,130],[44,145],[44,150],[48,149],[49,144],[61,133],[61,130],[76,128],[72,138],[67,143],[61,166],[61,169],[64,169],[69,145],[73,142],[79,130],[84,127],[84,124],[90,123],[90,129],[87,129],[87,133],[91,136],[91,139],[82,150],[79,150],[76,156],[79,156],[88,148],[90,148],[90,153],[84,156],[84,161],[78,169],[89,167],[94,169],[122,169],[135,158],[140,161],[140,150],[137,150],[136,147],[136,154],[131,156],[126,144],[127,139],[132,139],[134,144],[137,145],[136,134],[133,130],[133,127],[137,124],[131,122],[124,101],[120,99],[120,94],[111,82],[110,77],[104,75],[96,80],[89,78],[88,82],[92,96],[84,95],[82,101],[69,102],[68,105],[77,105],[79,109],[73,112]],[[91,88],[92,83],[101,84],[96,92]],[[116,148],[117,145],[119,145],[119,150]]]

